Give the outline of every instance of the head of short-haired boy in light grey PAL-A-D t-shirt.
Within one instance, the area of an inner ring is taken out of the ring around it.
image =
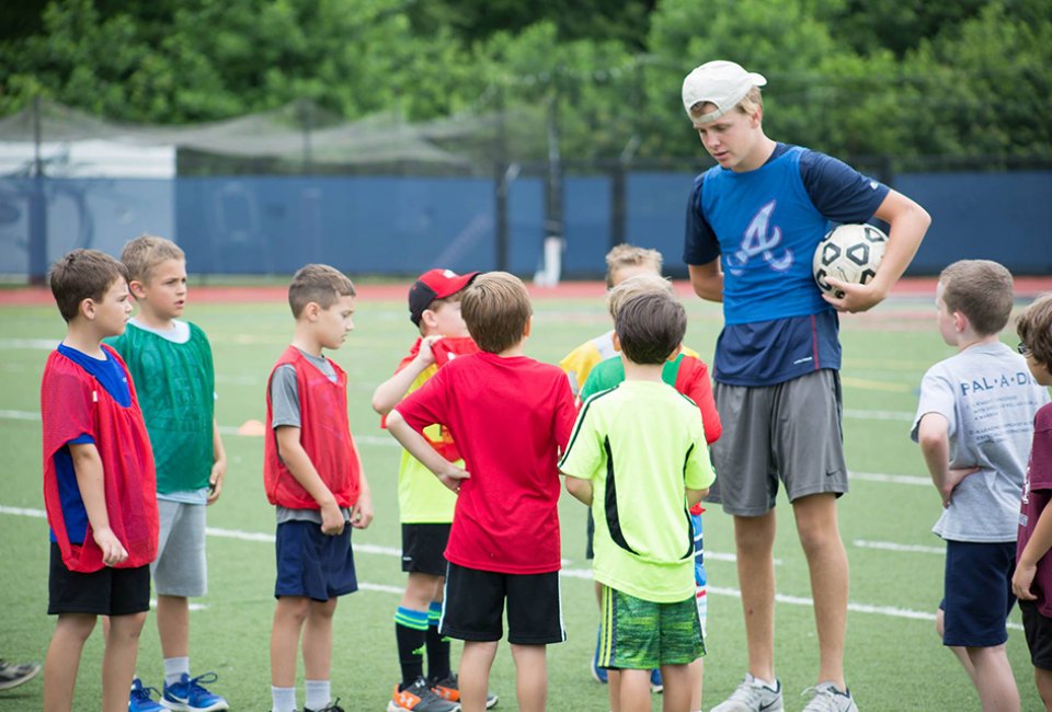
[[[1011,314],[1011,273],[990,260],[960,260],[939,275],[942,301],[950,313],[960,312],[977,334],[996,334]]]

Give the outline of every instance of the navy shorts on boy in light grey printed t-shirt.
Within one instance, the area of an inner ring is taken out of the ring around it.
[[[993,647],[1008,640],[1005,621],[1016,597],[1016,542],[946,542],[942,644]]]

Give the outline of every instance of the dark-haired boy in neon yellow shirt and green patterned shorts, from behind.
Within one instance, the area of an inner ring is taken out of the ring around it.
[[[690,709],[688,666],[705,654],[695,602],[689,507],[714,480],[697,405],[662,381],[686,333],[664,291],[628,298],[615,317],[625,380],[581,409],[559,463],[567,490],[592,507],[593,575],[603,584],[599,665],[614,712],[650,710],[660,667],[664,707]]]

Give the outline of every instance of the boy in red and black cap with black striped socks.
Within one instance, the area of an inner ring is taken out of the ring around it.
[[[413,283],[409,290],[409,318],[420,330],[420,336],[395,375],[373,393],[373,410],[377,413],[386,416],[451,358],[478,352],[460,314],[461,292],[478,274],[428,269]],[[462,464],[447,429],[432,426],[424,432],[424,437],[447,460]],[[448,712],[460,700],[457,676],[449,666],[449,640],[438,634],[446,575],[442,552],[449,540],[456,504],[456,495],[416,458],[402,450],[398,510],[402,524],[402,571],[408,578],[395,611],[395,640],[402,679],[387,705],[388,712]],[[495,697],[492,704],[496,704]]]

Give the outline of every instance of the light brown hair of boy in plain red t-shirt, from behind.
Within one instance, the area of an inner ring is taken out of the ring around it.
[[[534,309],[522,279],[487,272],[464,290],[460,313],[479,348],[500,354],[523,340]]]

